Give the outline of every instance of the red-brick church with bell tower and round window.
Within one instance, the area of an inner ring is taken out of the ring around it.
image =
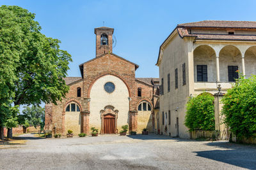
[[[96,57],[79,65],[81,77],[65,78],[70,90],[62,101],[45,105],[46,130],[65,135],[70,129],[77,135],[96,127],[100,134],[117,134],[129,125],[129,131],[154,131],[157,86],[151,82],[159,80],[135,78],[139,66],[112,53],[113,32],[95,28]]]

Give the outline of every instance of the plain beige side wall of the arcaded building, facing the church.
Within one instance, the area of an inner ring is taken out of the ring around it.
[[[177,118],[179,118],[179,136],[189,138],[188,129],[184,125],[186,103],[189,97],[188,87],[188,42],[176,35],[163,51],[163,59],[159,66],[159,80],[164,78],[164,95],[160,96],[159,130],[160,134],[177,136]],[[186,63],[186,85],[182,85],[182,64]],[[178,89],[175,89],[175,69],[178,68]],[[167,74],[170,73],[170,92],[167,91]],[[178,108],[178,109],[177,109]],[[164,115],[170,110],[171,124],[163,125]],[[177,111],[175,111],[177,110]],[[164,129],[167,127],[167,131]]]

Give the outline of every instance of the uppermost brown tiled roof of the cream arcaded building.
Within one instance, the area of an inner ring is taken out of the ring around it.
[[[223,28],[256,28],[255,21],[203,20],[179,24],[178,27],[223,27]]]

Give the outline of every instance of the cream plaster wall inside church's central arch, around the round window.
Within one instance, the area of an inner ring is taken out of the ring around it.
[[[115,84],[115,90],[108,93],[104,90],[107,82]],[[128,125],[129,115],[129,92],[125,83],[113,75],[106,75],[99,78],[92,86],[90,91],[90,128],[96,127],[101,129],[100,110],[104,110],[105,106],[111,105],[118,110],[117,129],[122,130],[122,125]]]

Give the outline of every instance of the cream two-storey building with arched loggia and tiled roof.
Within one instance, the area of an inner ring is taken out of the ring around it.
[[[179,24],[159,48],[159,132],[189,138],[189,96],[214,94],[256,74],[256,22],[205,20]]]

